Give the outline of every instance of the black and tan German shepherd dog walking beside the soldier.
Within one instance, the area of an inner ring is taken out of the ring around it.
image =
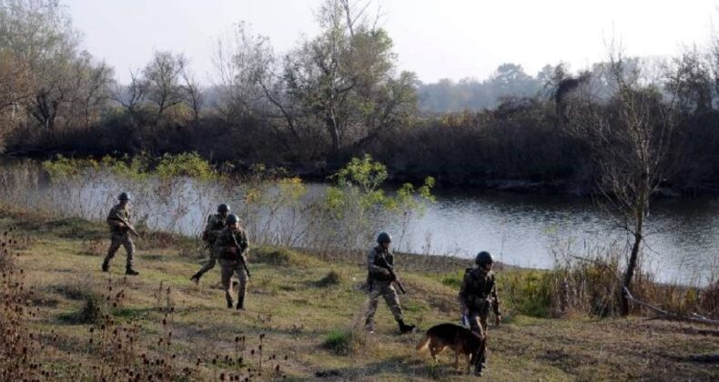
[[[437,360],[445,347],[454,350],[454,368],[460,368],[460,354],[467,360],[467,374],[470,373],[471,365],[476,361],[481,351],[484,339],[470,329],[454,324],[440,324],[430,327],[427,330],[427,337],[417,345],[417,351],[421,352],[430,348],[432,359]]]

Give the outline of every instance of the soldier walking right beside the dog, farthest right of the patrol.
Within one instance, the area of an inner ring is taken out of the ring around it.
[[[490,305],[494,310],[494,324],[500,325],[500,299],[491,267],[494,259],[489,252],[481,251],[474,259],[477,265],[467,268],[460,289],[460,302],[463,314],[470,321],[471,330],[482,337],[479,354],[475,357],[474,374],[481,376],[487,361],[487,316]]]

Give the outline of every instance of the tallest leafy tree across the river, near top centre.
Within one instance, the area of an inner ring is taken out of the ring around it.
[[[394,75],[390,36],[370,25],[365,9],[355,12],[347,0],[327,0],[319,10],[320,35],[284,57],[275,84],[281,89],[275,94],[284,99],[268,92],[290,128],[322,126],[333,153],[405,124],[416,103],[415,76]]]

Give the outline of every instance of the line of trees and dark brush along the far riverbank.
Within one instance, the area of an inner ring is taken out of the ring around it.
[[[0,0],[0,147],[39,157],[196,151],[238,169],[261,162],[316,176],[370,154],[396,178],[578,193],[603,176],[591,138],[563,126],[595,109],[609,121],[621,114],[605,64],[534,76],[505,64],[484,81],[422,84],[398,70],[373,16],[346,0],[327,0],[318,15],[319,35],[283,55],[239,25],[218,40],[211,85],[164,51],[117,84],[56,1]],[[623,67],[673,115],[663,186],[719,190],[717,49]]]

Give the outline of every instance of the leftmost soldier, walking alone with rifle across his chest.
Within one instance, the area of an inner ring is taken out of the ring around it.
[[[107,256],[105,261],[102,263],[102,271],[107,272],[110,268],[110,260],[115,256],[117,248],[125,246],[127,252],[127,266],[125,268],[125,274],[130,276],[137,276],[139,272],[132,268],[133,256],[135,255],[135,244],[132,242],[130,237],[130,231],[134,231],[130,225],[130,210],[127,204],[130,201],[130,196],[127,192],[120,194],[117,197],[120,201],[119,204],[110,209],[110,213],[107,214],[107,225],[110,226],[110,233],[112,242],[110,243],[109,249],[107,249]]]

